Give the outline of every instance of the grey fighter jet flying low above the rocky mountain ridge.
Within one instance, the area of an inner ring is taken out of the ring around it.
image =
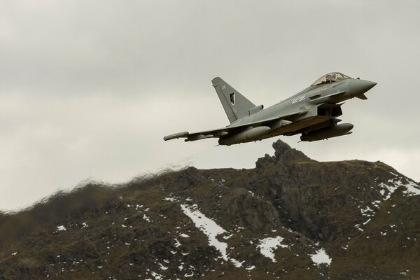
[[[328,73],[288,99],[264,109],[255,106],[223,79],[211,80],[228,116],[230,125],[202,132],[179,132],[163,139],[185,138],[197,141],[218,138],[220,145],[234,145],[276,137],[302,134],[301,141],[318,141],[351,134],[351,123],[340,123],[342,104],[357,97],[377,83],[351,78],[339,72]],[[339,124],[340,123],[340,124]]]

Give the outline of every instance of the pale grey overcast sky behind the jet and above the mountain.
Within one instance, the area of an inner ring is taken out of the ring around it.
[[[420,181],[419,1],[1,1],[0,209],[83,180],[255,167],[272,142],[164,142],[228,125],[211,79],[266,107],[331,71],[377,82],[353,134],[297,143]]]

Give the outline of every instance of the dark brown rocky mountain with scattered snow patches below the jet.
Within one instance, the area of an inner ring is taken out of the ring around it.
[[[418,183],[273,148],[2,213],[0,279],[420,279]]]

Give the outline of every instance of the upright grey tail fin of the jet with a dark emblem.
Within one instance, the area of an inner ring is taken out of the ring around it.
[[[223,109],[225,109],[230,123],[235,122],[239,118],[249,116],[249,111],[255,108],[255,104],[246,99],[244,95],[240,94],[223,79],[216,77],[211,80],[211,83],[213,83],[217,95],[221,99]]]

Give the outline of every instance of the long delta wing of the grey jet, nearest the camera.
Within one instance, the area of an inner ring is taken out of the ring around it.
[[[228,127],[218,128],[216,130],[206,130],[206,131],[194,132],[194,133],[179,132],[179,133],[169,134],[169,135],[163,137],[163,139],[165,141],[168,141],[168,140],[172,140],[172,139],[186,138],[186,141],[197,141],[197,140],[202,140],[202,139],[207,139],[207,138],[219,138],[219,137],[223,137],[223,136],[228,135],[228,134],[236,134],[237,132],[240,132],[240,131],[244,130],[246,127],[250,127],[250,126],[251,127],[258,127],[260,125],[266,125],[266,124],[269,124],[269,123],[273,123],[276,120],[281,120],[283,118],[289,118],[289,117],[292,117],[292,116],[297,116],[301,113],[302,112],[288,113],[287,115],[284,115],[284,116],[267,118],[267,119],[264,119],[264,120],[258,120],[258,121],[251,122],[251,123],[243,123],[243,124],[240,124],[240,125],[235,125],[235,123],[232,123],[232,125],[230,125]]]

